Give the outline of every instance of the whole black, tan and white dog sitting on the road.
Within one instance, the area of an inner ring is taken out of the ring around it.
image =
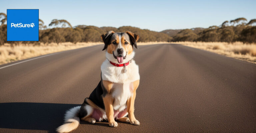
[[[109,31],[101,35],[101,39],[106,51],[106,60],[101,65],[101,81],[81,106],[66,112],[65,123],[56,129],[59,133],[76,129],[80,119],[89,123],[108,120],[110,127],[117,127],[115,120],[140,124],[134,116],[140,75],[133,59],[139,36],[129,31]]]

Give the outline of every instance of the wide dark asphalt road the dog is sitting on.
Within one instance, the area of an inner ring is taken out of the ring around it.
[[[99,83],[102,48],[0,69],[0,132],[55,132],[65,110],[82,104]],[[135,117],[141,125],[81,122],[74,133],[256,132],[255,64],[177,44],[135,51],[141,75]]]

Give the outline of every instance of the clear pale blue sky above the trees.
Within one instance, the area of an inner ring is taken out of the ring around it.
[[[52,19],[66,19],[72,26],[134,26],[141,29],[207,28],[225,20],[256,18],[256,0],[0,0],[6,9],[39,9],[48,25]]]

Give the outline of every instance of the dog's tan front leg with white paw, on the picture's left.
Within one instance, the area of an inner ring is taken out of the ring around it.
[[[103,102],[106,110],[106,115],[108,117],[108,124],[111,127],[117,127],[117,122],[115,122],[115,119],[114,119],[114,109],[113,109],[114,99],[110,94],[113,83],[109,81],[103,81],[102,83],[104,86],[104,91],[106,91],[104,92],[106,93],[106,95],[103,97]]]

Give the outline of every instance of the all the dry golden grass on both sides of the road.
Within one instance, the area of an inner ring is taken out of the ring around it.
[[[138,42],[137,45],[151,45],[151,44],[163,44],[170,42]],[[256,64],[256,44],[244,44],[242,42],[172,42],[175,44],[182,44],[185,46],[207,50],[217,54],[225,55],[228,57],[248,61]],[[76,44],[71,42],[63,42],[57,45],[57,43],[50,43],[44,45],[14,45],[5,43],[0,46],[0,64],[13,62],[16,60],[27,59],[40,55],[77,49],[87,46],[103,44],[102,42],[78,42]]]

